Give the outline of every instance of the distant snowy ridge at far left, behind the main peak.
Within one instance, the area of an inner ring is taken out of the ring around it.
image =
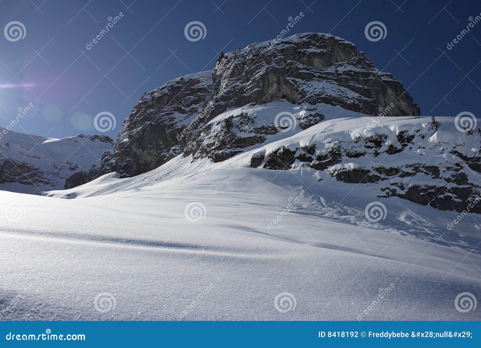
[[[113,147],[104,135],[54,139],[3,128],[0,133],[0,190],[14,192],[37,194],[93,180],[104,174],[101,158]]]

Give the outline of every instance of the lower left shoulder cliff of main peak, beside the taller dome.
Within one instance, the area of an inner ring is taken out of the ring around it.
[[[139,175],[182,153],[182,132],[198,116],[212,85],[212,71],[180,77],[142,96],[120,129],[112,171]]]

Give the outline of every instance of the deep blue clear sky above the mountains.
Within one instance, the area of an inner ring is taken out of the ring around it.
[[[19,21],[26,35],[15,42],[0,35],[0,126],[9,124],[19,107],[33,103],[13,130],[51,137],[98,134],[93,117],[108,111],[117,125],[105,134],[115,138],[145,91],[212,69],[217,52],[275,38],[288,17],[300,12],[304,17],[290,34],[325,32],[353,42],[408,88],[423,116],[478,114],[481,23],[453,49],[446,45],[470,16],[481,13],[479,0],[132,1],[2,0],[0,29]],[[122,19],[87,50],[108,17],[120,12]],[[185,38],[191,21],[205,25],[205,39]],[[387,27],[385,39],[366,39],[364,29],[372,21]]]

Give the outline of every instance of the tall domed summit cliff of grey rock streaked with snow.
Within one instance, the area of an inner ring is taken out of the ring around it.
[[[254,43],[230,52],[215,64],[213,81],[210,100],[221,111],[285,99],[371,116],[394,103],[388,116],[420,114],[391,74],[376,69],[354,44],[327,34],[298,34],[275,45]]]

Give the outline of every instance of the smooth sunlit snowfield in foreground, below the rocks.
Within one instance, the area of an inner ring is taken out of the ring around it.
[[[284,136],[299,143],[317,127],[321,142],[327,116]],[[448,231],[456,212],[318,181],[312,168],[249,168],[255,151],[220,163],[179,155],[48,196],[1,192],[0,318],[481,319],[455,305],[463,292],[481,298],[477,214]],[[386,211],[372,222],[376,201]],[[291,304],[276,304],[281,293]]]

